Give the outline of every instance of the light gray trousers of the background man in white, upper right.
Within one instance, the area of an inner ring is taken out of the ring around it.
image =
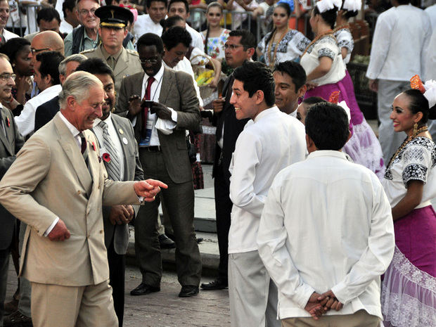
[[[389,163],[392,155],[397,151],[402,141],[406,139],[406,133],[395,132],[390,113],[392,112],[392,103],[395,96],[410,89],[410,82],[390,81],[380,79],[378,81],[378,140],[383,151],[383,160],[385,164]]]

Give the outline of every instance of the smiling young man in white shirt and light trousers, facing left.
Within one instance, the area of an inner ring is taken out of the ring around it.
[[[304,160],[304,127],[274,105],[274,78],[266,65],[246,61],[233,71],[236,119],[250,118],[230,165],[229,297],[231,327],[280,326],[277,288],[257,252],[264,200],[276,174]]]

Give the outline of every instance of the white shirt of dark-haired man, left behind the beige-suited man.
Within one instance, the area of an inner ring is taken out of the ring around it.
[[[62,91],[62,86],[60,84],[50,86],[25,103],[21,114],[15,116],[15,122],[17,123],[21,135],[27,136],[34,132],[35,113],[37,112],[37,108],[39,105],[46,103],[55,96],[58,96],[60,91]]]

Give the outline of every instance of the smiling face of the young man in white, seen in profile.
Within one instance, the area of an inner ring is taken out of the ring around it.
[[[253,94],[250,98],[248,91],[244,90],[244,84],[238,79],[233,82],[233,94],[231,94],[230,103],[235,107],[235,114],[237,120],[245,118],[255,119],[257,115],[257,94]],[[260,101],[262,102],[262,101]]]

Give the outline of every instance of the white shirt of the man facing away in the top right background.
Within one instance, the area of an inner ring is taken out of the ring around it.
[[[366,77],[409,81],[423,72],[431,36],[430,18],[411,4],[392,7],[377,18]]]

